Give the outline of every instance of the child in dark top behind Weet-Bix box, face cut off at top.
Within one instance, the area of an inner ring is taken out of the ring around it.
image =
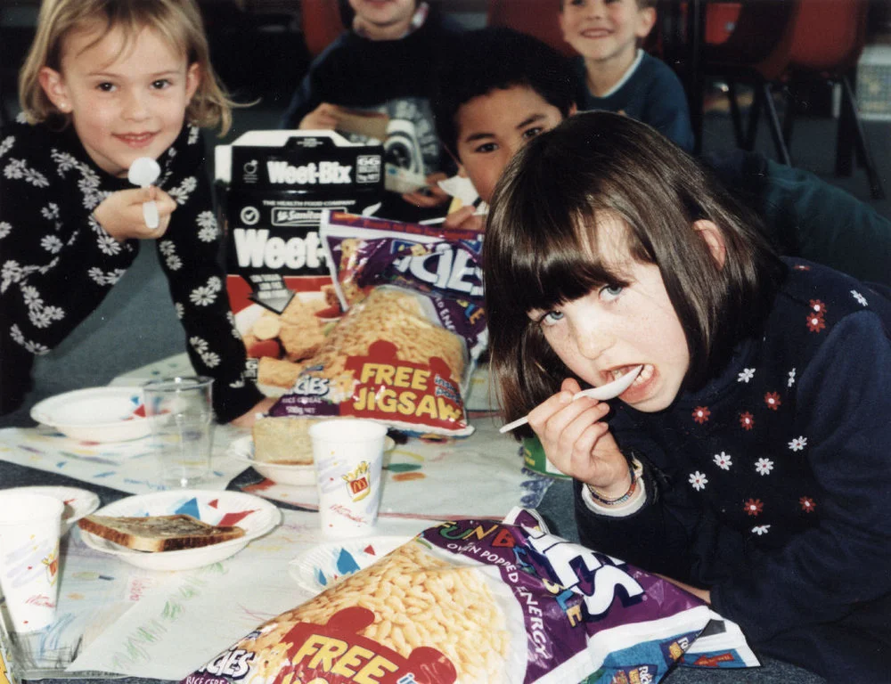
[[[417,0],[349,0],[349,5],[356,12],[352,28],[310,64],[281,126],[335,129],[343,109],[386,112],[410,135],[413,131],[414,156],[421,153],[421,159],[388,162],[428,177],[426,188],[403,199],[417,208],[437,207],[447,196],[436,183],[446,175],[430,111],[431,75],[462,29]],[[391,209],[388,218],[417,215],[408,208]]]

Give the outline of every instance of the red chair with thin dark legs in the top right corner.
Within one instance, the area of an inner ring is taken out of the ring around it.
[[[838,118],[836,174],[850,175],[854,152],[857,161],[865,167],[872,197],[884,199],[850,80],[866,41],[868,11],[868,0],[773,0],[743,4],[736,30],[723,45],[706,47],[704,65],[707,73],[728,79],[731,111],[741,146],[748,150],[754,148],[758,117],[764,110],[777,155],[786,164],[791,164],[789,144],[795,121],[794,93],[814,81],[840,84],[842,110]],[[765,12],[773,12],[772,19],[766,18]],[[769,35],[771,33],[773,35]],[[756,38],[761,39],[760,45],[756,44]],[[773,43],[767,49],[764,49],[765,38],[768,44]],[[733,80],[737,79],[748,80],[756,87],[745,136],[741,134],[739,107],[732,88]],[[787,94],[782,126],[773,99],[776,86],[782,86]]]

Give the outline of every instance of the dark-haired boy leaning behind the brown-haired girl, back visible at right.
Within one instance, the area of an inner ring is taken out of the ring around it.
[[[437,131],[459,173],[487,202],[513,154],[575,112],[574,91],[567,61],[534,37],[482,28],[458,45],[438,77]],[[891,221],[868,204],[755,152],[714,153],[700,162],[756,210],[783,254],[891,286]],[[462,207],[446,226],[481,231],[484,218]]]

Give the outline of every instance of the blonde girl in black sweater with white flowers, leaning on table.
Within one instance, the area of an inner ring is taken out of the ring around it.
[[[0,395],[19,405],[45,354],[102,302],[154,240],[195,371],[216,380],[221,422],[271,405],[245,351],[217,261],[220,231],[196,126],[228,128],[192,0],[45,0],[20,73],[23,114],[0,132]],[[157,159],[156,186],[127,170]],[[163,188],[163,190],[162,190]],[[148,228],[143,202],[159,227]],[[176,211],[175,211],[176,210]]]

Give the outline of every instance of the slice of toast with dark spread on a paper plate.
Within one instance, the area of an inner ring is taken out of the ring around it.
[[[217,527],[192,516],[86,516],[78,526],[102,539],[137,551],[197,549],[244,536],[241,527]]]

